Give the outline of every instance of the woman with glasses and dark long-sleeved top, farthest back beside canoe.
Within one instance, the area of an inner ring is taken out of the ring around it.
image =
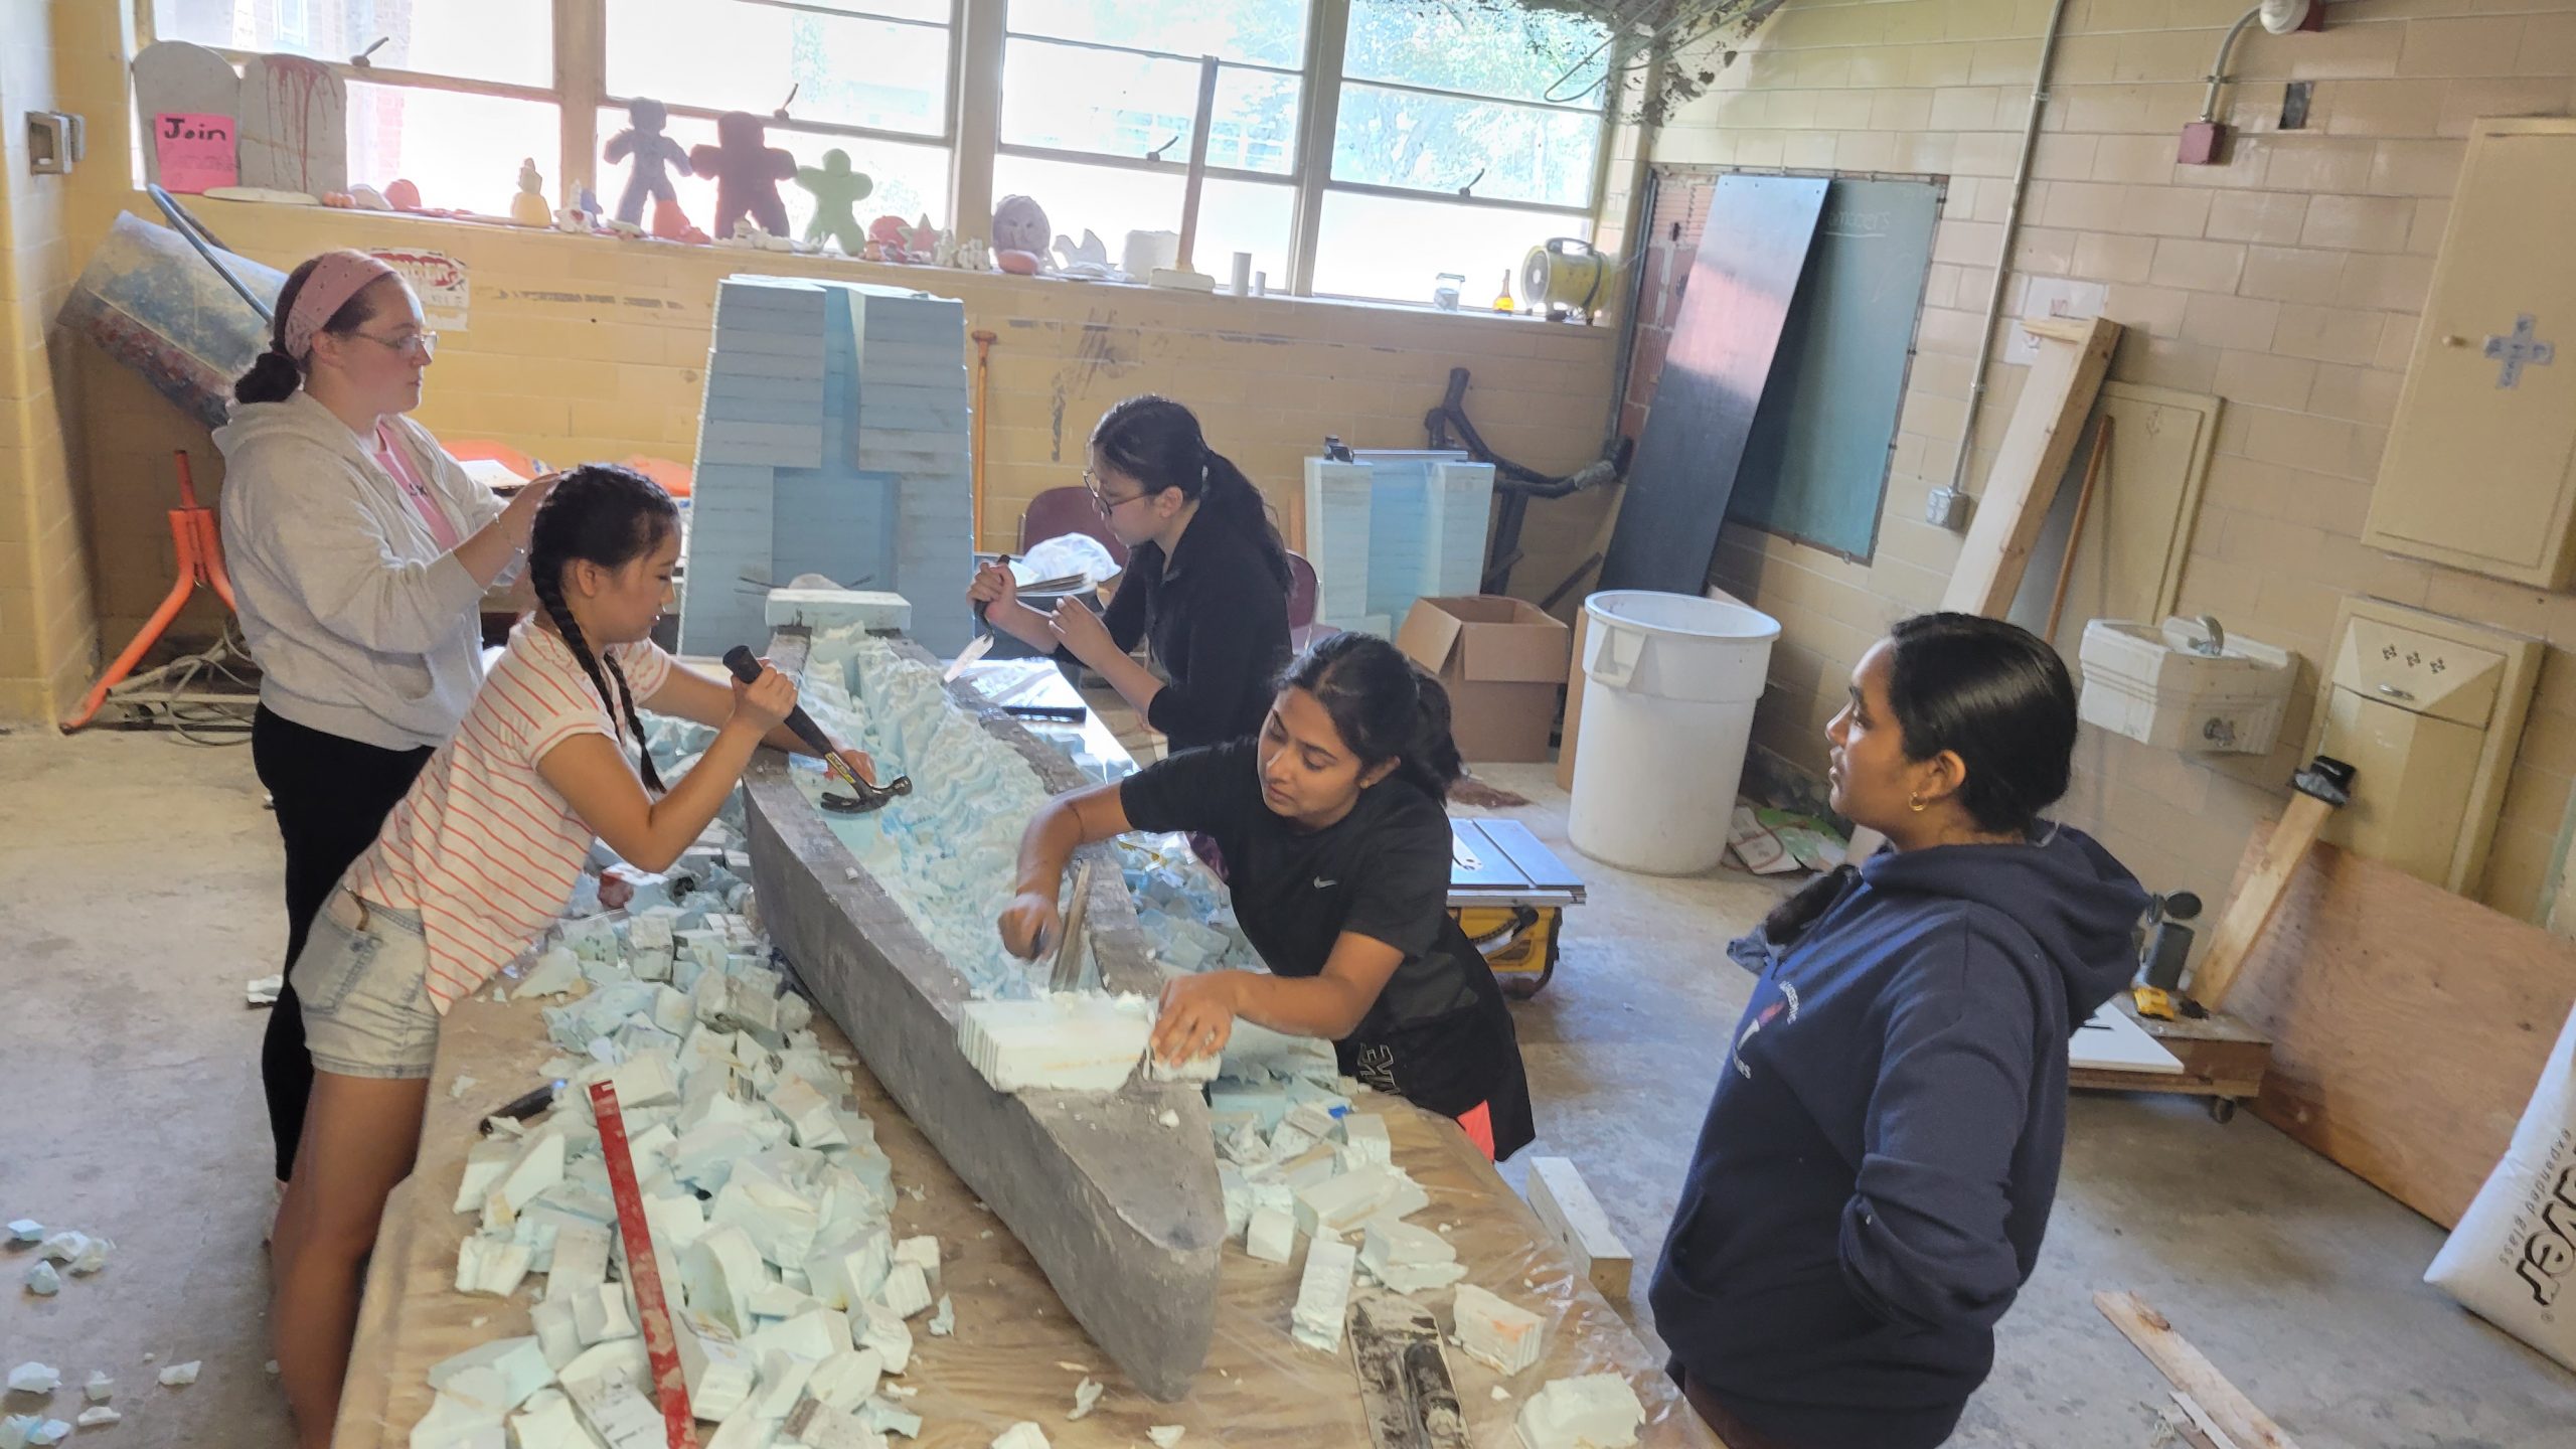
[[[1108,616],[1079,601],[1038,614],[1002,565],[966,596],[994,629],[1105,678],[1172,750],[1252,735],[1288,663],[1288,547],[1260,490],[1170,397],[1110,407],[1090,454],[1082,487],[1131,549]],[[1131,657],[1136,639],[1170,678]]]

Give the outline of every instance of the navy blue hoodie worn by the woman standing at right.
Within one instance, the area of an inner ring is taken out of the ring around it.
[[[2136,969],[2136,877],[2089,835],[1880,853],[1762,975],[1708,1104],[1654,1325],[1798,1449],[1927,1449],[1994,1364],[2066,1137],[2066,1036]],[[1775,915],[1775,923],[1788,910]]]

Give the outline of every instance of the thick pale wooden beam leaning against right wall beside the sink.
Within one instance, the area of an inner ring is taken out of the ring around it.
[[[2110,353],[2120,345],[2120,322],[2102,317],[2032,317],[2022,322],[2040,338],[2040,361],[2030,364],[2022,402],[2012,410],[1994,472],[1976,500],[1968,544],[1942,590],[1942,608],[2002,619],[2022,588],[2030,549],[2040,541],[2058,480],[2092,415]]]

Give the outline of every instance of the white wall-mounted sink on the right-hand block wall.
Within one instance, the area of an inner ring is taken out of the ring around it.
[[[2298,660],[2218,619],[2094,619],[2084,627],[2087,724],[2161,750],[2267,753]]]

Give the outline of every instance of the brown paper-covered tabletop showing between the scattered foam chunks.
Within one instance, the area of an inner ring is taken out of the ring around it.
[[[528,1310],[544,1292],[544,1279],[531,1274],[528,1287],[510,1299],[456,1292],[456,1245],[477,1217],[448,1209],[482,1114],[536,1085],[538,1065],[556,1055],[544,1036],[538,1006],[471,998],[446,1018],[420,1165],[394,1189],[368,1266],[358,1346],[332,1439],[337,1449],[407,1444],[412,1423],[430,1408],[430,1364],[533,1330]],[[827,1052],[855,1057],[829,1016],[814,1013],[814,1031]],[[464,1096],[451,1096],[459,1075],[474,1083]],[[1368,1446],[1347,1343],[1342,1354],[1327,1356],[1288,1338],[1303,1253],[1293,1263],[1262,1263],[1229,1248],[1208,1366],[1188,1400],[1154,1403],[1092,1348],[1030,1256],[999,1220],[976,1207],[974,1194],[866,1065],[853,1067],[853,1078],[858,1106],[876,1119],[876,1142],[894,1163],[896,1238],[938,1235],[940,1292],[956,1299],[956,1336],[930,1338],[925,1320],[912,1320],[912,1369],[886,1379],[920,1390],[904,1408],[922,1415],[922,1446],[984,1449],[1023,1418],[1043,1426],[1059,1449],[1126,1449],[1144,1444],[1146,1428],[1157,1423],[1185,1426],[1185,1449]],[[1662,1364],[1592,1292],[1566,1253],[1546,1240],[1530,1209],[1453,1122],[1383,1096],[1363,1098],[1363,1106],[1386,1116],[1396,1163],[1432,1199],[1412,1222],[1450,1225],[1450,1243],[1468,1263],[1466,1281],[1546,1318],[1546,1354],[1538,1366],[1510,1379],[1450,1348],[1458,1403],[1476,1446],[1517,1449],[1512,1421],[1522,1400],[1548,1379],[1595,1372],[1625,1374],[1636,1387],[1646,1405],[1641,1444],[1718,1444],[1672,1390]],[[1448,1320],[1448,1289],[1422,1299]],[[1066,1423],[1074,1385],[1084,1374],[1108,1385],[1108,1395],[1090,1418]],[[1497,1385],[1507,1385],[1510,1397],[1497,1400]]]

